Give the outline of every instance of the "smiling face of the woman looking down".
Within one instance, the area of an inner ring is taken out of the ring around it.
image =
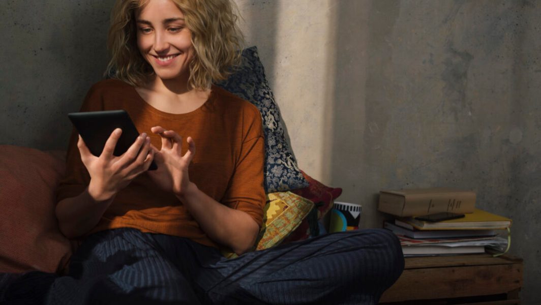
[[[194,48],[182,11],[171,0],[149,0],[135,18],[137,47],[157,77],[187,82]]]

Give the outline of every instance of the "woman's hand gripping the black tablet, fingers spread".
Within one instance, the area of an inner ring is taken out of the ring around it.
[[[81,153],[81,160],[90,175],[88,193],[96,201],[113,198],[118,191],[138,175],[147,171],[154,158],[154,151],[150,148],[150,137],[143,133],[122,156],[114,156],[116,143],[122,135],[120,128],[115,129],[99,157],[90,153],[81,136],[77,147]]]

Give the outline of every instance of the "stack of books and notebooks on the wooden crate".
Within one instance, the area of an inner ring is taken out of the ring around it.
[[[395,216],[384,228],[400,238],[405,256],[504,253],[511,220],[475,207],[476,194],[446,188],[380,191],[378,210]],[[464,214],[428,222],[416,218],[439,212]],[[502,237],[502,231],[506,237]]]

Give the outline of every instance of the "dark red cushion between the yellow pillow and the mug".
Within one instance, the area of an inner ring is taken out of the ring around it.
[[[340,194],[342,194],[341,188],[331,188],[327,187],[325,184],[315,180],[314,178],[308,176],[304,171],[301,171],[302,175],[306,178],[309,185],[306,188],[291,190],[292,193],[297,194],[301,197],[305,197],[308,200],[311,200],[316,204],[321,204],[318,209],[318,220],[321,219],[331,208],[333,207],[333,202]],[[282,243],[288,243],[293,241],[305,240],[310,235],[310,226],[308,219],[305,218],[300,226],[296,228],[288,237],[283,240]]]

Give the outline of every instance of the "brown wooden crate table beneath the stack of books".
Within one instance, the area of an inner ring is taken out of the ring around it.
[[[519,304],[522,258],[489,254],[406,257],[380,304]]]

